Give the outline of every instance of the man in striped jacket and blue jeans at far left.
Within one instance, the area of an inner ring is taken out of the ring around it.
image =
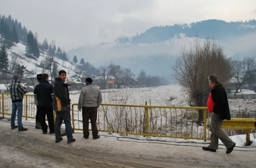
[[[11,99],[12,99],[12,115],[11,115],[11,129],[18,127],[18,131],[27,131],[22,125],[22,109],[23,109],[23,97],[27,93],[25,87],[20,84],[19,75],[15,74],[10,85]],[[15,125],[16,112],[18,110],[18,126]]]

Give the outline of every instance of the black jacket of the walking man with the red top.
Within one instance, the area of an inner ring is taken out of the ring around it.
[[[219,115],[221,120],[230,120],[229,103],[227,93],[221,83],[216,84],[211,90],[212,100],[214,102],[213,112]]]

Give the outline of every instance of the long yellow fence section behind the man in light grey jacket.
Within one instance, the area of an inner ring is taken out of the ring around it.
[[[203,111],[203,127],[196,124],[199,110]],[[209,140],[208,116],[205,107],[101,104],[97,124],[102,132]],[[82,131],[82,112],[78,111],[78,104],[72,105],[72,118],[73,128]]]

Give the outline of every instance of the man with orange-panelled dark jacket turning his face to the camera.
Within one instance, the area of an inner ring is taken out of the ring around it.
[[[59,77],[54,80],[54,98],[53,98],[53,108],[56,111],[55,120],[55,142],[59,143],[63,138],[61,137],[60,126],[64,120],[68,143],[75,142],[72,135],[71,127],[71,116],[70,116],[70,99],[68,87],[72,85],[73,82],[65,84],[67,73],[64,70],[59,72]]]

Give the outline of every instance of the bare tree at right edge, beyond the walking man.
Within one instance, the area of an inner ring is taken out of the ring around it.
[[[253,57],[245,57],[243,60],[234,60],[232,61],[232,73],[234,76],[234,81],[237,83],[236,85],[236,93],[246,81],[251,78],[253,75],[253,69],[255,69],[255,60]]]

